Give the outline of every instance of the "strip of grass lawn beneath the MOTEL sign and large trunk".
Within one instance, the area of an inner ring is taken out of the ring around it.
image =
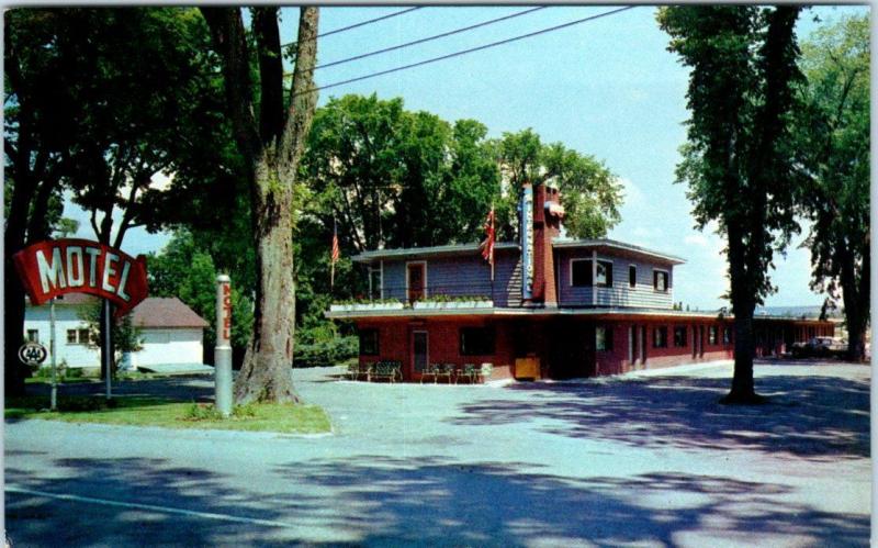
[[[329,417],[316,405],[254,404],[237,407],[234,416],[224,420],[205,404],[134,396],[119,396],[113,402],[108,406],[103,398],[64,396],[58,399],[59,411],[50,412],[48,396],[9,398],[5,417],[286,434],[330,432]]]

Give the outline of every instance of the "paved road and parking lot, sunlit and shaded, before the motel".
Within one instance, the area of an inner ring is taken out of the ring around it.
[[[330,413],[331,436],[7,422],[12,540],[868,543],[866,366],[762,365],[773,403],[758,407],[716,403],[728,364],[505,387],[368,384],[336,372],[294,372],[304,399]],[[211,392],[204,380],[175,383]]]

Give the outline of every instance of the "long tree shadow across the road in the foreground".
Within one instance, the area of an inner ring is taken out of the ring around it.
[[[232,489],[200,469],[161,459],[58,460],[68,478],[29,489],[75,493],[193,512],[277,521],[230,523],[155,511],[7,495],[7,523],[20,546],[594,546],[705,545],[709,538],[809,546],[865,545],[867,515],[780,505],[788,488],[709,476],[650,473],[571,479],[530,465],[460,465],[358,456],[272,470],[269,492]],[[531,470],[531,471],[525,471]],[[536,470],[536,471],[534,471]],[[91,491],[86,491],[88,485]],[[79,518],[59,521],[64,512]],[[63,526],[58,526],[63,524]],[[705,534],[705,537],[687,535]],[[52,539],[46,544],[45,539]],[[699,541],[700,540],[700,541]]]

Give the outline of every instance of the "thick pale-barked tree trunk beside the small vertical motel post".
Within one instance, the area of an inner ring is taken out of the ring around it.
[[[293,189],[279,183],[277,161],[255,167],[252,195],[257,293],[254,331],[235,381],[235,402],[297,402],[293,390]]]

